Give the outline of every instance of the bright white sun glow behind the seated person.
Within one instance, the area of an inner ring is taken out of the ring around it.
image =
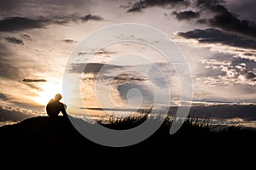
[[[42,91],[38,92],[38,97],[35,101],[40,105],[47,105],[50,99],[55,98],[55,94],[61,94],[61,84],[56,82],[44,82],[42,84]]]

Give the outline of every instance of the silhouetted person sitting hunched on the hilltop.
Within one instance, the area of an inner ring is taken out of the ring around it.
[[[48,116],[57,117],[61,112],[64,117],[67,117],[67,106],[60,102],[61,99],[61,94],[56,94],[55,99],[49,100],[49,103],[46,105],[46,112]]]

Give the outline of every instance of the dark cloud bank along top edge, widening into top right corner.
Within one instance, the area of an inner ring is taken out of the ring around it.
[[[253,3],[254,4],[254,3]],[[177,20],[190,20],[201,15],[201,18],[197,20],[197,23],[206,24],[208,26],[218,27],[224,31],[233,31],[237,34],[242,34],[247,37],[256,37],[256,24],[253,21],[241,20],[237,14],[233,14],[225,6],[224,0],[144,0],[134,3],[132,8],[128,12],[139,12],[142,8],[148,8],[153,6],[166,7],[172,5],[174,10],[173,14]],[[187,12],[178,12],[180,7],[176,5],[183,5],[189,7]],[[191,8],[195,9],[195,13],[191,11]]]

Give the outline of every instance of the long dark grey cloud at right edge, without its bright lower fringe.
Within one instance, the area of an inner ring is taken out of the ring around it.
[[[228,33],[217,29],[206,29],[193,31],[178,32],[178,36],[187,39],[196,39],[201,43],[221,43],[233,47],[256,48],[256,40],[248,37],[242,37],[234,33]]]

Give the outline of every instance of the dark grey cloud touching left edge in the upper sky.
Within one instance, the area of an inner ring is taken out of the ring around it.
[[[32,28],[42,28],[49,23],[45,19],[29,19],[22,17],[9,17],[0,20],[0,31],[21,31]]]

